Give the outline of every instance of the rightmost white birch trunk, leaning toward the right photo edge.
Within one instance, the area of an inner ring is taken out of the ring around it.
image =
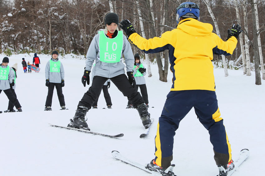
[[[258,53],[259,53],[259,60],[260,60],[260,67],[262,72],[262,79],[265,79],[265,71],[264,71],[264,64],[263,64],[263,55],[262,55],[262,48],[261,48],[261,41],[260,41],[260,28],[259,28],[259,21],[258,21],[258,6],[257,0],[253,0],[254,9],[255,9],[255,17],[256,17],[256,25],[257,25],[257,33],[258,33]]]

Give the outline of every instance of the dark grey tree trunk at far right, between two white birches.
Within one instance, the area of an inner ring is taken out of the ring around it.
[[[261,85],[261,78],[260,78],[260,70],[259,70],[259,58],[258,58],[258,33],[257,33],[257,19],[256,19],[256,12],[254,3],[256,1],[251,1],[251,11],[252,11],[252,23],[253,23],[253,52],[254,52],[254,66],[255,66],[255,79],[256,85]],[[257,2],[256,2],[257,3]],[[262,65],[263,67],[263,65]]]

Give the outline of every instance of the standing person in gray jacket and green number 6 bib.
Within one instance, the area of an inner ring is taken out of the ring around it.
[[[65,110],[65,97],[63,95],[62,87],[65,86],[65,70],[64,66],[58,59],[58,52],[51,53],[51,60],[49,60],[45,67],[46,86],[48,87],[48,95],[46,98],[44,111],[51,111],[51,102],[54,86],[57,90],[58,99],[60,102],[61,110]]]

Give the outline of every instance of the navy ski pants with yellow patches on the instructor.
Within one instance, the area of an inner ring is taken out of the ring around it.
[[[171,91],[162,110],[155,137],[155,162],[167,168],[173,159],[175,131],[180,121],[194,107],[195,114],[209,131],[217,165],[226,165],[231,160],[231,146],[223,125],[217,104],[216,94],[208,90]],[[187,129],[190,131],[190,129]]]

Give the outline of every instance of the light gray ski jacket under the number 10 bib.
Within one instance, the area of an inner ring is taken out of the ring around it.
[[[122,55],[121,55],[121,61],[116,63],[106,63],[101,62],[99,60],[99,34],[97,34],[93,40],[91,41],[87,54],[86,54],[86,66],[85,70],[91,71],[91,67],[95,62],[95,71],[94,76],[102,76],[105,78],[113,78],[115,76],[118,76],[120,74],[124,74],[124,64],[122,62],[122,55],[124,55],[125,58],[125,64],[126,64],[126,70],[132,71],[133,69],[133,63],[134,63],[134,56],[132,53],[132,48],[127,40],[127,37],[123,34],[123,48],[122,48]]]

